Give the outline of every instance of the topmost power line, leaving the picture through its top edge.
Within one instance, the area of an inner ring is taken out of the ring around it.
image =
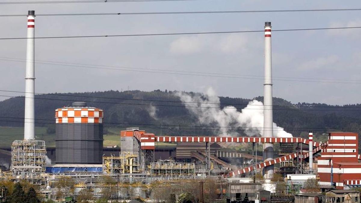
[[[68,3],[115,3],[138,1],[191,1],[191,0],[68,0],[68,1],[6,1],[0,4],[68,4]]]

